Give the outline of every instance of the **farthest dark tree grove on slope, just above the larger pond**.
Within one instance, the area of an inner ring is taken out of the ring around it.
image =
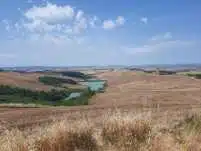
[[[80,78],[80,79],[84,79],[84,80],[92,78],[90,75],[87,75],[87,74],[84,74],[84,73],[78,72],[78,71],[65,71],[65,72],[61,72],[61,74],[63,76]]]

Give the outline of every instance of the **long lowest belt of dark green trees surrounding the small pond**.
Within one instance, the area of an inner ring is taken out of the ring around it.
[[[72,92],[82,92],[78,98],[65,100]],[[72,106],[87,105],[89,98],[95,93],[90,89],[74,90],[55,90],[49,92],[32,91],[24,88],[0,85],[0,103],[24,103],[24,104],[42,104],[52,106]]]

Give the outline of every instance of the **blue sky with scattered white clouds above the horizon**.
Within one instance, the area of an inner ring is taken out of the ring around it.
[[[201,63],[200,0],[0,0],[0,66]]]

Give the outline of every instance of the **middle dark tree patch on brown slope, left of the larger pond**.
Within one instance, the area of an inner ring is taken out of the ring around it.
[[[39,81],[46,85],[53,85],[53,86],[61,86],[64,83],[77,84],[77,82],[72,79],[64,79],[64,78],[50,77],[50,76],[39,77]]]

